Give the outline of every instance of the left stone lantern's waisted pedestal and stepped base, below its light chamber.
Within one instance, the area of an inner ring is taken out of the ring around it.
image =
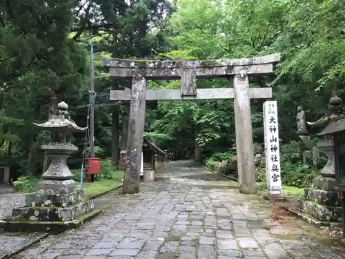
[[[51,146],[42,146],[48,150],[52,162],[37,184],[37,192],[27,193],[25,207],[13,209],[12,217],[0,221],[0,229],[60,232],[79,227],[101,212],[95,209],[93,200],[77,191],[77,182],[71,179],[73,175],[66,161],[77,147]]]

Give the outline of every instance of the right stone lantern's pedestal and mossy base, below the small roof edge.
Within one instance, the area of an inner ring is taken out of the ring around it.
[[[314,179],[313,187],[304,189],[304,198],[295,200],[295,207],[322,222],[342,222],[342,207],[339,206],[337,193],[334,191],[336,180],[333,142],[324,140],[317,146],[324,150],[328,161],[320,175]]]

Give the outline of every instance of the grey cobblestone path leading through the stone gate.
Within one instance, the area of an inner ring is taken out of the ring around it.
[[[273,224],[270,203],[192,162],[170,162],[137,195],[96,202],[97,218],[15,258],[345,258],[335,240],[295,218]]]

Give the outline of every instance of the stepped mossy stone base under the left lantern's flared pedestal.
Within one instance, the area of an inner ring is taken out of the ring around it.
[[[0,220],[3,231],[64,231],[81,226],[97,215],[94,200],[87,200],[79,191],[48,194],[26,194],[26,206],[13,209],[12,217]]]

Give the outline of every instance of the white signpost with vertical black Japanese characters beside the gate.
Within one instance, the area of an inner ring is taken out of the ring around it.
[[[282,178],[280,177],[277,101],[264,102],[264,133],[268,193],[270,197],[279,198],[282,195]]]

